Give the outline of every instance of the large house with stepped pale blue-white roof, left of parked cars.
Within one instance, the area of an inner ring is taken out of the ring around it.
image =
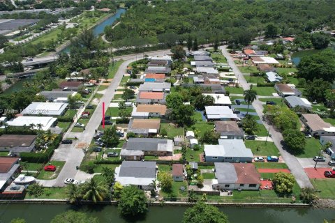
[[[218,139],[218,145],[204,145],[206,162],[252,162],[253,153],[242,139]]]

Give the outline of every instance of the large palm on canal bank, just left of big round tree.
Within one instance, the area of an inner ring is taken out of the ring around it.
[[[101,186],[101,183],[97,183],[94,178],[91,178],[89,182],[84,185],[84,196],[85,200],[90,200],[96,203],[96,201],[103,201],[107,197],[108,190],[106,187]]]

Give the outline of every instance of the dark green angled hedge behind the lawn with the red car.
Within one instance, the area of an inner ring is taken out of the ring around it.
[[[27,162],[36,162],[36,163],[45,163],[50,160],[52,155],[54,154],[54,149],[58,148],[61,143],[61,134],[59,134],[52,144],[50,144],[49,148],[45,151],[45,153],[20,153],[20,157],[22,161]]]

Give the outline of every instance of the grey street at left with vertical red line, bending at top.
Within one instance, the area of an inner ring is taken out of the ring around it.
[[[145,54],[149,56],[162,56],[163,54],[169,54],[170,50],[161,50],[155,52],[147,52]],[[39,183],[44,185],[45,187],[63,187],[64,180],[66,178],[75,178],[76,180],[85,180],[87,178],[92,177],[91,174],[85,174],[82,171],[76,169],[76,167],[80,166],[84,158],[83,148],[87,148],[89,144],[91,144],[91,139],[94,137],[95,130],[98,129],[98,126],[101,123],[102,119],[102,110],[103,110],[103,102],[105,102],[105,111],[110,105],[110,101],[114,97],[115,89],[119,86],[123,75],[126,73],[126,68],[129,63],[135,61],[136,59],[142,59],[143,54],[132,54],[128,56],[118,56],[117,59],[125,59],[124,63],[121,64],[119,70],[112,80],[112,83],[108,86],[106,93],[101,98],[98,106],[94,114],[92,114],[89,123],[87,123],[86,130],[84,132],[66,132],[64,138],[72,138],[74,136],[78,137],[77,140],[74,141],[72,145],[60,145],[57,150],[55,150],[54,155],[52,156],[52,160],[60,160],[66,161],[63,169],[59,173],[57,179],[54,180],[38,180]]]

